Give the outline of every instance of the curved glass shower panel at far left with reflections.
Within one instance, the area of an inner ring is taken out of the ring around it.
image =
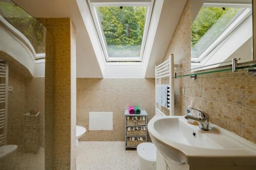
[[[0,169],[45,169],[45,63],[49,30],[0,0]]]

